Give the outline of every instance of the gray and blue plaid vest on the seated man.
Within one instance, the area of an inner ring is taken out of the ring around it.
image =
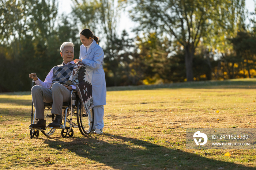
[[[76,64],[58,65],[53,67],[53,83],[66,84]]]

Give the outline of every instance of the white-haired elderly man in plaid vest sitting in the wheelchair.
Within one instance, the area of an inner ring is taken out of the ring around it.
[[[71,100],[72,89],[75,86],[68,86],[65,82],[71,76],[72,70],[76,65],[74,59],[74,45],[71,42],[64,42],[60,46],[60,55],[63,58],[61,65],[55,66],[50,70],[42,82],[36,73],[29,74],[29,77],[34,79],[35,86],[31,89],[32,100],[35,107],[35,118],[37,123],[30,124],[29,127],[45,130],[46,120],[44,120],[44,102],[52,104],[52,114],[55,118],[48,127],[60,127],[62,125],[62,104]]]

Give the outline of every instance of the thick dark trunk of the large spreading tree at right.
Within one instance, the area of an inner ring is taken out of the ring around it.
[[[185,47],[185,66],[186,66],[186,76],[187,81],[193,81],[193,57],[194,49],[190,50],[189,45]]]

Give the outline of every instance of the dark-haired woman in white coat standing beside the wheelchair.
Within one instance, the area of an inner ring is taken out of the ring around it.
[[[98,37],[93,35],[89,29],[84,29],[80,32],[80,46],[79,59],[74,62],[82,63],[86,66],[86,70],[91,78],[93,85],[93,103],[94,103],[94,134],[102,134],[104,127],[103,116],[104,107],[106,104],[106,80],[105,73],[102,68],[104,53],[102,48],[98,45]]]

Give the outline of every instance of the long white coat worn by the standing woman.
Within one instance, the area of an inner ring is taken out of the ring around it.
[[[93,40],[92,45],[86,53],[86,47],[80,46],[79,59],[86,65],[86,70],[93,85],[93,103],[95,106],[105,105],[107,88],[105,73],[102,68],[104,53],[102,48]]]

